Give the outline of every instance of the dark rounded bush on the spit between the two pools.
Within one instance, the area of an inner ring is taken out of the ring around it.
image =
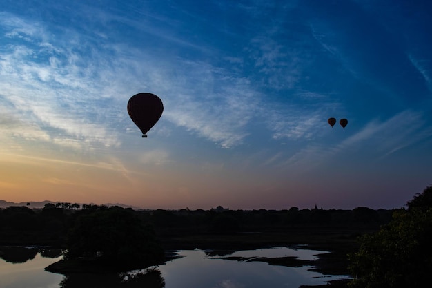
[[[86,258],[122,268],[159,264],[164,251],[132,209],[89,207],[70,229],[67,259]]]

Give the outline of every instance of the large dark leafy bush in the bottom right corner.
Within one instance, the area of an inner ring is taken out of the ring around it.
[[[432,187],[408,202],[408,210],[374,234],[362,236],[349,256],[351,287],[422,287],[432,271]]]

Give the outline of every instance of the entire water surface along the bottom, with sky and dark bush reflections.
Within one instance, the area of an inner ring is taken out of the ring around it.
[[[14,254],[16,253],[16,254]],[[322,285],[348,276],[324,276],[308,271],[311,266],[268,265],[257,258],[295,258],[313,263],[324,251],[293,250],[286,247],[224,253],[202,250],[177,251],[164,265],[120,274],[61,274],[44,268],[61,259],[61,251],[0,247],[1,288],[261,288]],[[225,255],[226,254],[226,255]],[[49,258],[47,258],[49,257]],[[253,261],[251,261],[253,259]]]

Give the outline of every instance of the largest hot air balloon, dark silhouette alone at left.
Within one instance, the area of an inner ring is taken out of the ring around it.
[[[163,111],[162,100],[152,93],[138,93],[128,101],[130,119],[141,130],[143,138],[147,137],[146,133],[156,124]]]

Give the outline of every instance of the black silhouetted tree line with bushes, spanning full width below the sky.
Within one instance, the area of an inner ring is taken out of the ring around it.
[[[121,263],[121,268],[131,269],[164,260],[160,239],[319,227],[371,232],[363,233],[357,251],[348,255],[351,287],[423,287],[432,271],[432,186],[416,194],[406,208],[392,210],[219,208],[8,207],[0,209],[0,245],[51,245],[66,248],[66,260],[95,260],[113,269]]]

